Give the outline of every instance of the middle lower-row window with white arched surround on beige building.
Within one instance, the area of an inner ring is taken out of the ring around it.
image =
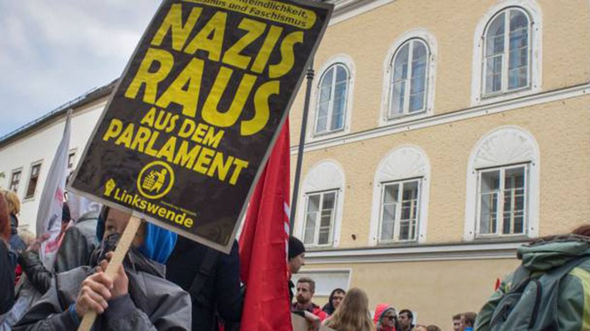
[[[430,166],[418,147],[383,157],[373,181],[369,245],[425,241]]]

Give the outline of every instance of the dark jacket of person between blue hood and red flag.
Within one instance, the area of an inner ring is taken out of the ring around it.
[[[191,285],[201,270],[201,263],[208,250],[211,249],[207,246],[179,236],[174,251],[166,262],[166,279],[191,294],[194,331],[216,330],[216,314],[225,322],[238,323],[242,313],[237,241],[234,241],[229,255],[216,254],[212,274],[206,276],[199,293],[191,293]]]

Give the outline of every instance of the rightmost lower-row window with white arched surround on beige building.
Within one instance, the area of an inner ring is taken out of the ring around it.
[[[467,169],[467,240],[538,233],[539,147],[525,130],[503,127],[485,135]]]

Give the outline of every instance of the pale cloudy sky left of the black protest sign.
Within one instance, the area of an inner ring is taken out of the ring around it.
[[[0,137],[119,77],[160,0],[0,0]]]

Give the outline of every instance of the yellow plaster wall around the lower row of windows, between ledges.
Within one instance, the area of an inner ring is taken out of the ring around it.
[[[589,104],[588,96],[571,98],[309,151],[304,154],[301,181],[319,161],[338,161],[346,177],[340,247],[367,246],[379,161],[400,145],[417,145],[431,167],[427,242],[458,242],[463,236],[470,153],[490,131],[516,125],[529,131],[540,146],[540,235],[566,232],[590,216]],[[296,155],[291,155],[292,174],[295,163]],[[298,213],[303,207],[300,200]]]

